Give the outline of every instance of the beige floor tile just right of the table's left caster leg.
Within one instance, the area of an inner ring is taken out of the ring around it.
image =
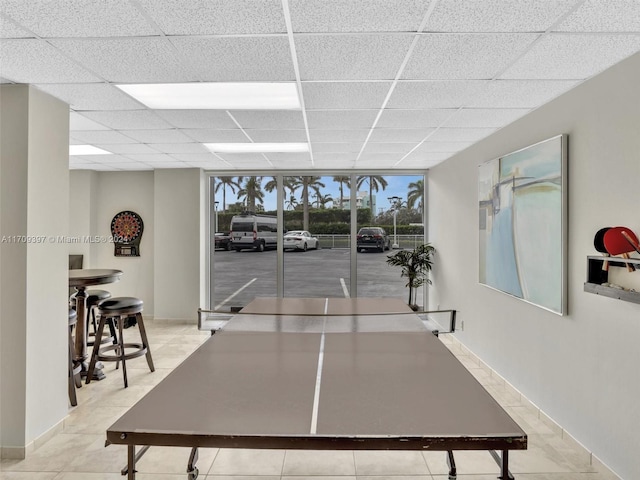
[[[221,448],[209,475],[282,475],[284,450]]]

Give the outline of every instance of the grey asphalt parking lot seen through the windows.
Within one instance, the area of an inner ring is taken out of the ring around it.
[[[400,268],[387,265],[393,251],[357,254],[357,296],[398,297],[408,300]],[[255,297],[276,296],[277,252],[216,250],[213,301],[216,309],[244,306]],[[284,295],[287,297],[346,297],[350,291],[350,251],[321,248],[284,253]],[[423,305],[422,289],[417,304]]]

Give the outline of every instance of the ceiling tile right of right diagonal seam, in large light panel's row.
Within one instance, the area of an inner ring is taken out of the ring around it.
[[[486,81],[399,81],[388,108],[458,108],[466,105]]]

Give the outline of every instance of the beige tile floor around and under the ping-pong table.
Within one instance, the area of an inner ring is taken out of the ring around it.
[[[128,363],[129,388],[114,364],[107,378],[78,390],[61,433],[25,460],[2,460],[0,480],[120,480],[126,448],[104,446],[105,430],[208,338],[195,326],[147,322],[156,371],[143,357]],[[126,332],[127,341],[134,330]],[[452,352],[523,427],[529,449],[511,453],[518,480],[616,480],[560,427],[510,388],[449,336]],[[185,392],[188,394],[188,392]],[[79,447],[80,446],[80,447]],[[139,480],[186,479],[189,449],[155,447],[138,463]],[[199,480],[447,480],[444,452],[316,452],[295,450],[201,449]],[[455,454],[459,480],[494,480],[498,467],[487,452]]]

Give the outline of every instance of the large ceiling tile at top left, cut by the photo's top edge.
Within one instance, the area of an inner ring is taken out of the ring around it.
[[[41,37],[124,37],[159,32],[127,0],[2,0],[2,10]]]

